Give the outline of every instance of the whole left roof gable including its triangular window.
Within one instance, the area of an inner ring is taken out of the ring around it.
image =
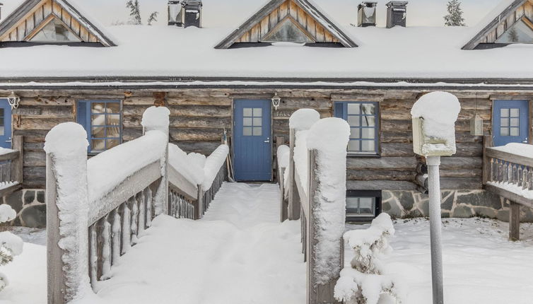
[[[0,42],[115,44],[66,0],[26,0],[0,23]]]

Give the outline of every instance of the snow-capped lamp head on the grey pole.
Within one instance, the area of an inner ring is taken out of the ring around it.
[[[459,112],[461,104],[450,93],[432,92],[418,99],[411,110],[414,153],[426,157],[454,155]]]

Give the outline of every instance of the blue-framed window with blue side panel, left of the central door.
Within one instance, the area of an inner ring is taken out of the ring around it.
[[[77,119],[87,131],[89,153],[100,153],[122,144],[120,100],[79,100]]]

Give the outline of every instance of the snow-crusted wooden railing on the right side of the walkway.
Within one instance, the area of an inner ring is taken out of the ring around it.
[[[346,124],[346,130],[349,129]],[[299,130],[303,131],[303,130]],[[338,130],[332,129],[331,134],[342,134],[337,132]],[[341,130],[342,131],[342,130]],[[347,132],[347,131],[346,131]],[[334,206],[325,206],[326,204],[334,204],[332,201],[325,202],[324,199],[324,187],[328,187],[331,182],[325,180],[325,175],[331,177],[333,174],[324,174],[332,168],[327,168],[324,162],[320,161],[327,158],[327,152],[318,151],[315,149],[307,149],[307,168],[304,172],[300,172],[295,164],[295,150],[296,136],[298,131],[291,129],[291,146],[289,151],[288,168],[279,166],[279,182],[281,189],[280,206],[281,206],[281,219],[288,217],[290,220],[300,219],[301,223],[301,241],[302,252],[304,256],[304,262],[307,262],[307,304],[318,303],[339,303],[334,298],[334,287],[337,279],[339,279],[340,270],[344,267],[344,240],[342,240],[342,233],[344,230],[345,221],[345,206],[344,204],[335,204]],[[312,136],[310,133],[309,136]],[[348,136],[346,136],[346,141]],[[342,157],[335,158],[341,165],[346,165],[346,146],[341,147],[341,154],[344,153],[344,159]],[[302,157],[300,154],[298,157]],[[339,168],[339,166],[337,167]],[[288,180],[284,180],[284,170],[288,170]],[[319,174],[322,172],[323,174]],[[332,172],[329,172],[332,173]],[[346,172],[339,173],[340,185],[346,185]],[[305,179],[305,180],[302,180]],[[344,182],[343,182],[344,180]],[[288,189],[285,189],[288,187]],[[341,194],[337,197],[345,197],[346,187],[339,187]],[[330,193],[331,194],[331,193]],[[339,193],[337,193],[339,194]],[[286,203],[288,199],[288,204]],[[339,209],[336,209],[339,208]],[[296,211],[298,209],[298,212]],[[331,218],[324,218],[324,213],[320,213],[319,209],[328,209],[328,212],[335,214],[344,214],[340,218],[339,230],[338,225],[332,223]],[[335,211],[334,211],[335,210]],[[288,215],[288,216],[286,216]],[[332,230],[333,229],[333,230]],[[332,235],[338,234],[336,240],[324,240],[323,235],[327,235],[331,232]],[[329,242],[330,245],[335,243],[338,245],[336,250],[332,250],[331,247],[328,251],[327,257],[322,256],[318,248],[323,244],[321,242]],[[321,269],[319,265],[329,265],[327,273],[324,273],[324,269]],[[327,278],[327,280],[324,280]]]

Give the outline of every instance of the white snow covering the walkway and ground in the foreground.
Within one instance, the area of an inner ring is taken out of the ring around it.
[[[225,184],[201,221],[156,218],[113,267],[113,278],[100,283],[98,296],[76,304],[305,303],[300,223],[278,223],[278,195],[276,185]],[[508,242],[507,223],[443,222],[446,303],[532,302],[532,224],[522,224],[522,242]],[[394,228],[388,272],[401,279],[404,304],[430,303],[428,221],[399,220]],[[24,251],[0,269],[11,281],[0,304],[45,304],[46,248],[30,243],[44,244],[45,233],[15,232]]]

